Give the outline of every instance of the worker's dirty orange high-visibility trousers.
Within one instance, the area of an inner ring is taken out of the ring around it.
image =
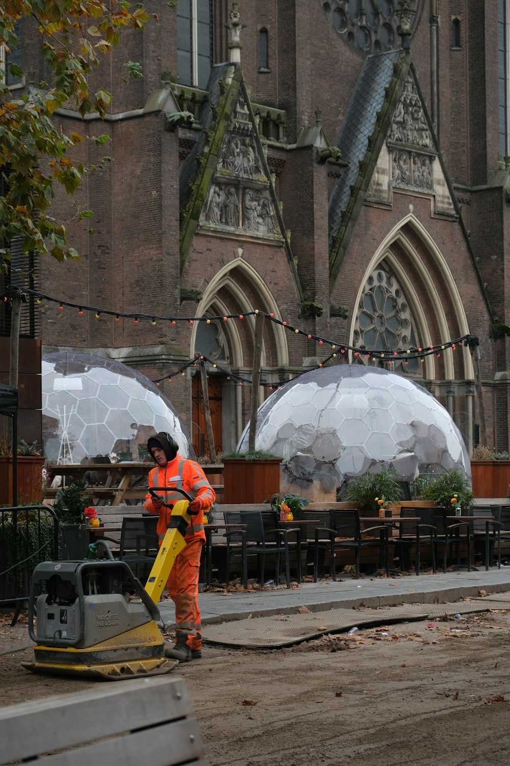
[[[186,548],[175,559],[167,581],[167,590],[175,604],[175,632],[177,640],[186,637],[190,649],[202,648],[200,609],[198,607],[198,576],[203,539],[187,542]]]

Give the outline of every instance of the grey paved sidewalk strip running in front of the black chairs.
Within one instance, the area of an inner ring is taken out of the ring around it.
[[[343,581],[321,580],[301,583],[298,588],[234,592],[204,592],[199,594],[202,625],[213,625],[228,620],[268,617],[273,614],[294,614],[301,606],[310,611],[324,611],[359,606],[383,607],[395,604],[433,604],[456,601],[461,597],[476,596],[479,591],[503,593],[510,591],[510,566],[491,568],[489,571],[451,571],[446,575],[421,574],[395,578],[362,577]],[[159,604],[165,627],[174,623],[172,601]]]

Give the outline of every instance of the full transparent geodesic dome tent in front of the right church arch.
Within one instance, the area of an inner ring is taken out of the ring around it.
[[[249,426],[238,449],[248,449]],[[401,480],[459,468],[470,477],[460,430],[442,404],[408,378],[336,365],[289,381],[258,409],[255,448],[284,458],[287,489],[331,492],[344,480],[395,466]]]

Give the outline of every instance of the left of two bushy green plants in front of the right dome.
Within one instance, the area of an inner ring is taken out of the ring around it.
[[[363,515],[378,516],[380,508],[387,509],[391,503],[400,502],[404,493],[395,468],[381,461],[375,472],[366,471],[349,479],[342,494],[343,499],[356,502]]]

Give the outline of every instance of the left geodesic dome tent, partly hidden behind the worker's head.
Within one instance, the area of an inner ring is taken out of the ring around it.
[[[42,361],[43,444],[50,462],[89,457],[143,460],[148,437],[167,431],[194,457],[184,422],[145,375],[92,354],[55,352]]]

